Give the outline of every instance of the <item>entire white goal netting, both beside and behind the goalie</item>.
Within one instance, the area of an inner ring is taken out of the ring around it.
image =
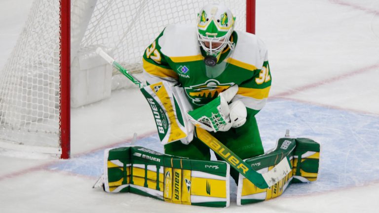
[[[72,0],[71,59],[79,49],[102,46],[129,71],[141,71],[145,48],[164,26],[195,24],[199,9],[211,2]],[[245,1],[221,3],[237,17],[236,29],[245,30]],[[1,142],[60,147],[59,7],[59,0],[35,0],[25,28],[0,70],[0,147]]]

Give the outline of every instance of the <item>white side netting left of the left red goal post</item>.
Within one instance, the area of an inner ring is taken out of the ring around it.
[[[0,141],[57,147],[59,2],[35,1],[25,26],[0,71]]]

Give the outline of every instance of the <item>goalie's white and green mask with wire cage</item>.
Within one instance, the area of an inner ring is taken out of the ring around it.
[[[197,37],[207,54],[204,59],[206,65],[215,66],[227,45],[233,49],[229,38],[233,33],[234,20],[235,17],[224,5],[209,4],[200,10],[197,15]]]

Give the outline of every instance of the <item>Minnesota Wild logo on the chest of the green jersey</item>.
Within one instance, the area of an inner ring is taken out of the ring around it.
[[[193,104],[202,106],[233,85],[234,83],[220,83],[218,80],[209,79],[205,83],[185,87],[184,89]]]

